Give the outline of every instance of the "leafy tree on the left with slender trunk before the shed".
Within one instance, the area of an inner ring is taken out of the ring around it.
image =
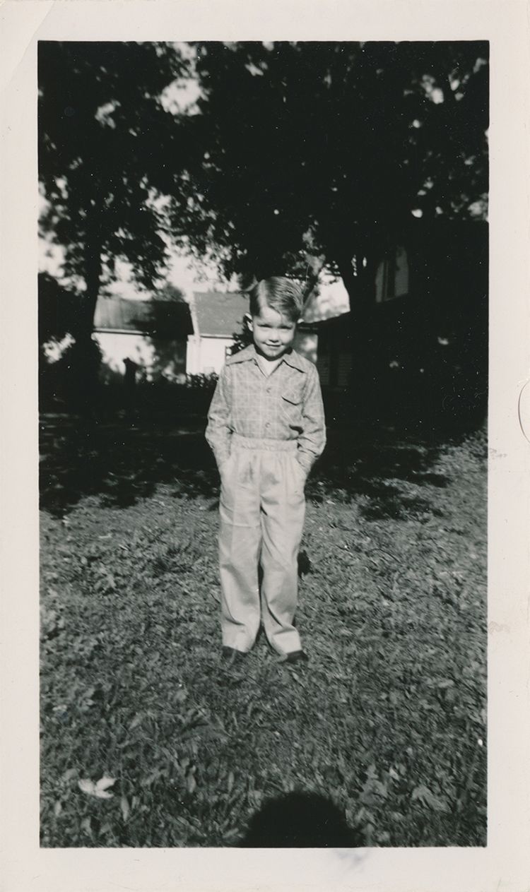
[[[178,145],[161,94],[181,70],[166,44],[39,44],[41,226],[64,247],[66,274],[85,285],[79,343],[90,338],[105,269],[128,260],[152,286],[163,265],[156,197],[168,191]]]

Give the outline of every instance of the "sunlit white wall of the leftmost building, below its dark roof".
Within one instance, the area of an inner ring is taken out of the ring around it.
[[[104,365],[112,372],[125,373],[124,359],[132,359],[145,369],[148,381],[158,377],[174,380],[186,372],[186,343],[157,340],[137,332],[95,332]]]

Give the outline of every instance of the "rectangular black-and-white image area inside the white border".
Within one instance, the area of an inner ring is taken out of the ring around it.
[[[485,845],[488,60],[39,42],[41,846]]]

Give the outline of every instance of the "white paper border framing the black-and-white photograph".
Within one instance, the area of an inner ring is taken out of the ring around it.
[[[2,830],[5,892],[530,888],[529,36],[525,0],[7,0],[0,6]],[[488,843],[484,848],[38,846],[37,41],[489,40]]]

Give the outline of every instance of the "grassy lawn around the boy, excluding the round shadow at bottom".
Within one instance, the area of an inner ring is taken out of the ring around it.
[[[42,845],[234,846],[293,790],[371,846],[485,844],[484,434],[330,437],[300,669],[264,636],[241,670],[219,664],[200,432],[48,418],[42,456]]]

